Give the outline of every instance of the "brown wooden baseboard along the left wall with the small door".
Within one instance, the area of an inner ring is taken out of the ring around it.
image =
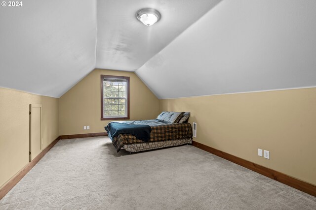
[[[40,159],[60,140],[57,137],[50,145],[40,152],[31,162],[29,162],[12,180],[3,185],[0,189],[0,200],[20,181],[22,178],[40,161]]]

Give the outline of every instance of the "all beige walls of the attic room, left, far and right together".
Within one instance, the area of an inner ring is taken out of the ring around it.
[[[316,88],[158,100],[133,72],[95,69],[59,99],[0,88],[0,186],[28,163],[29,104],[42,104],[44,148],[59,135],[104,132],[101,74],[130,77],[130,120],[191,112],[195,141],[316,185]]]

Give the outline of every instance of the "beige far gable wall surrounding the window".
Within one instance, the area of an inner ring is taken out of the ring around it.
[[[158,116],[158,98],[134,72],[95,69],[60,97],[60,135],[105,132],[104,126],[110,120],[100,120],[102,74],[130,77],[130,120],[155,119]],[[85,125],[89,125],[90,130],[83,130]]]

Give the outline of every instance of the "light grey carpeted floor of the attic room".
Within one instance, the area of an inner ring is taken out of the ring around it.
[[[59,141],[0,210],[308,210],[316,197],[193,146],[117,153],[108,137]]]

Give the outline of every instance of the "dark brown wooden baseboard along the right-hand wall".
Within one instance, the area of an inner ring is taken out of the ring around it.
[[[229,153],[226,153],[224,151],[208,147],[206,145],[203,145],[203,144],[195,142],[195,141],[192,141],[192,145],[201,149],[201,150],[208,151],[212,154],[215,154],[219,157],[222,157],[226,160],[229,160],[229,161],[236,163],[240,166],[243,166],[247,169],[250,169],[250,170],[255,171],[259,174],[262,174],[266,177],[269,177],[271,179],[282,182],[283,184],[294,187],[294,188],[301,190],[303,192],[306,192],[310,195],[316,196],[316,186],[313,184],[307,183],[307,182],[302,181],[302,180],[295,179],[295,178],[290,177],[286,174],[277,172],[273,169],[266,168],[264,166],[255,164],[255,163],[250,162],[248,160],[244,160],[240,157],[236,157],[236,156],[229,154]]]

